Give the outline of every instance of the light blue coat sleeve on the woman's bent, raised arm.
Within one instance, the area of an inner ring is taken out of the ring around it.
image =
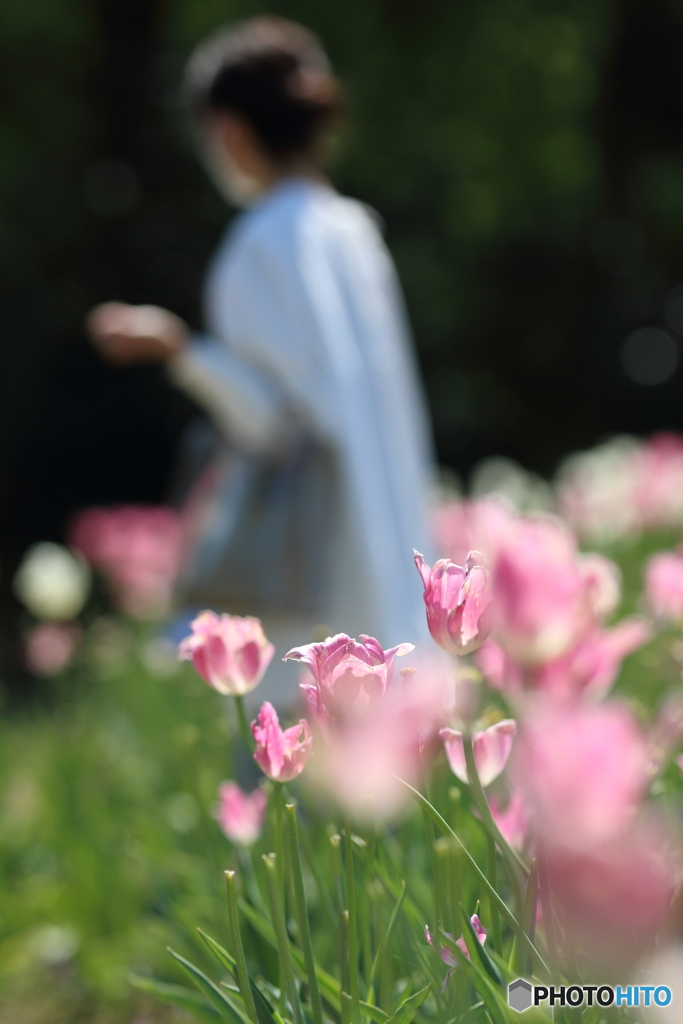
[[[240,240],[212,271],[211,335],[169,367],[247,454],[275,454],[302,433],[334,443],[338,433],[327,336],[341,310],[311,296],[309,261],[306,239],[276,229]]]

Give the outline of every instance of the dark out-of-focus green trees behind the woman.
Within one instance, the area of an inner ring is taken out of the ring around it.
[[[333,177],[385,220],[444,465],[550,472],[683,425],[677,0],[5,0],[5,587],[76,509],[168,497],[196,411],[158,368],[102,365],[83,317],[116,297],[201,325],[229,211],[178,82],[203,36],[264,10],[319,33],[347,86]]]

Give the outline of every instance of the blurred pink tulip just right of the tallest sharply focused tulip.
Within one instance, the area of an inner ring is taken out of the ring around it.
[[[587,628],[575,542],[559,520],[514,521],[494,562],[493,591],[496,637],[522,665],[559,657]]]

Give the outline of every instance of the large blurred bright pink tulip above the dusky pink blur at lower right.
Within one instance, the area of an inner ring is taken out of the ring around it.
[[[575,848],[624,830],[648,783],[644,737],[617,703],[529,708],[512,767],[536,829]]]

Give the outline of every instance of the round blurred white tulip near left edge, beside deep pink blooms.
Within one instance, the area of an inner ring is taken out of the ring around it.
[[[14,593],[37,618],[74,618],[90,590],[90,569],[59,544],[34,544],[13,581]]]

